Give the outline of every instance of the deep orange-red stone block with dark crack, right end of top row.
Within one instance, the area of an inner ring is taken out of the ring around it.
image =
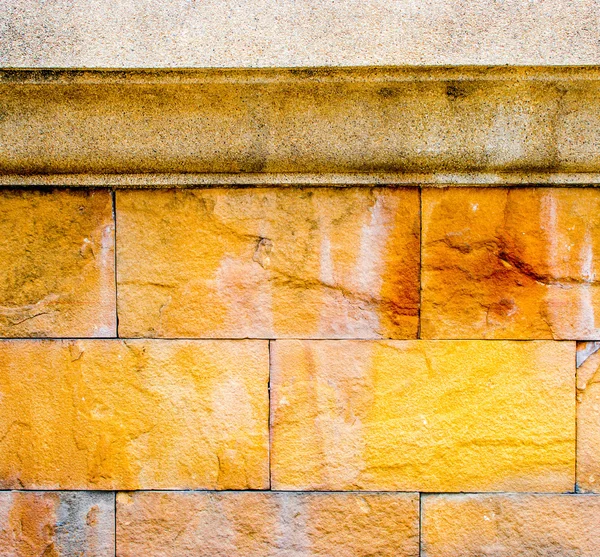
[[[423,338],[600,337],[600,190],[423,192]]]

